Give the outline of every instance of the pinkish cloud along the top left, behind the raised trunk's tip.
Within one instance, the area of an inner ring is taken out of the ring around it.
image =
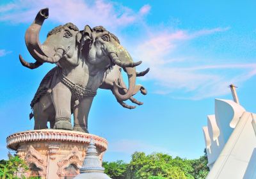
[[[139,12],[134,12],[121,4],[103,0],[16,0],[0,6],[0,21],[31,22],[38,10],[46,7],[49,7],[50,20],[62,24],[74,22],[80,28],[90,24],[90,26],[102,25],[108,29],[115,29],[136,22],[150,11],[149,5],[142,6]]]

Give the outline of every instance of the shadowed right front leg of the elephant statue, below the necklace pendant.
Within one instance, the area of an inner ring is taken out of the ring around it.
[[[85,97],[74,108],[74,128],[80,132],[88,132],[88,114],[92,106],[93,97]]]

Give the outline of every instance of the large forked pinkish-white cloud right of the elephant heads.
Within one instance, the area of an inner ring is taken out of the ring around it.
[[[136,59],[143,59],[145,66],[150,67],[150,73],[144,79],[156,84],[155,93],[175,93],[175,98],[193,100],[216,97],[229,93],[228,84],[239,85],[253,77],[256,63],[223,64],[216,62],[214,58],[196,59],[186,53],[177,57],[175,53],[179,51],[180,54],[180,49],[184,49],[182,46],[196,38],[215,35],[228,29],[230,28],[216,27],[193,32],[177,30],[172,33],[159,31],[148,35],[131,49]]]

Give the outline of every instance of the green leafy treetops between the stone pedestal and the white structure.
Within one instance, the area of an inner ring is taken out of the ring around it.
[[[104,162],[105,173],[113,179],[202,179],[209,172],[206,155],[188,160],[164,153],[134,152],[129,164],[122,160]]]

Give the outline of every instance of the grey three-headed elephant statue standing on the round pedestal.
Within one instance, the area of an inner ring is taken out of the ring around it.
[[[47,121],[50,121],[51,128],[88,132],[88,113],[93,98],[100,86],[104,88],[104,84],[108,84],[104,83],[108,81],[107,71],[111,72],[116,65],[124,69],[129,79],[128,88],[115,79],[111,87],[106,88],[111,88],[118,102],[134,99],[132,95],[139,90],[147,93],[136,86],[136,75],[145,75],[148,70],[136,74],[135,66],[141,61],[134,63],[118,38],[102,26],[93,29],[85,26],[79,31],[74,24],[67,23],[52,29],[41,44],[38,36],[48,15],[48,8],[40,10],[26,31],[26,46],[36,62],[28,63],[19,56],[22,65],[31,69],[45,62],[56,64],[45,75],[31,102],[35,129],[47,128]]]

